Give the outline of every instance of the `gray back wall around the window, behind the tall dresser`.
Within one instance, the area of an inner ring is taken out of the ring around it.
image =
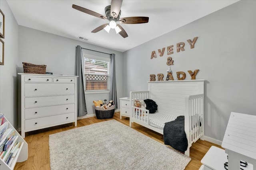
[[[53,72],[53,74],[74,75],[75,49],[77,45],[104,53],[115,53],[117,97],[122,97],[123,53],[24,26],[19,26],[18,44],[19,72],[23,72],[22,62],[27,62],[33,64],[45,64],[47,65],[46,72]],[[101,55],[101,53],[95,53],[95,55],[97,54]],[[94,114],[94,104],[92,101],[104,99],[109,100],[109,93],[86,94],[88,115]],[[119,107],[119,101],[115,102],[118,102]]]

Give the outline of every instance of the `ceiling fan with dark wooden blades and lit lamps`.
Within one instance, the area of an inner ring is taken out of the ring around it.
[[[92,33],[96,33],[102,29],[105,29],[108,33],[110,29],[115,29],[116,33],[119,33],[122,37],[126,38],[128,37],[128,34],[124,30],[123,27],[121,27],[120,24],[116,23],[126,23],[126,24],[135,24],[135,23],[147,23],[148,22],[148,17],[126,17],[126,18],[120,18],[121,15],[121,6],[122,6],[122,0],[112,0],[111,5],[106,6],[105,8],[105,14],[101,15],[98,14],[97,12],[88,10],[86,8],[77,6],[77,5],[72,5],[72,8],[79,10],[81,12],[84,12],[86,14],[90,14],[92,16],[96,16],[98,18],[102,18],[104,20],[109,20],[109,23],[105,23],[103,25],[100,25],[96,29],[92,30]]]

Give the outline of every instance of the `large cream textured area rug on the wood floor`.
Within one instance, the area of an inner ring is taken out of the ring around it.
[[[191,158],[116,121],[49,135],[51,170],[184,170]]]

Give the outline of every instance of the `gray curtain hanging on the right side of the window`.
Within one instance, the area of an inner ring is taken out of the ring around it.
[[[110,100],[114,101],[115,109],[117,109],[117,96],[116,96],[116,66],[115,54],[110,54]]]

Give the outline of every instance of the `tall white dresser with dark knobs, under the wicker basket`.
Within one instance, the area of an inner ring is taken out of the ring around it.
[[[77,121],[78,76],[21,75],[21,136],[25,132]]]

